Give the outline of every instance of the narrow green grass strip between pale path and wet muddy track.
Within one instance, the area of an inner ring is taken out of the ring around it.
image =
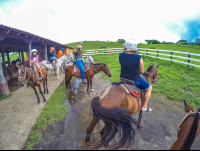
[[[66,97],[66,89],[64,80],[60,87],[56,88],[51,98],[47,101],[46,107],[40,113],[40,117],[32,128],[29,140],[26,144],[26,150],[32,150],[32,147],[37,144],[42,134],[41,130],[53,122],[60,121],[68,116],[67,105],[63,104]]]

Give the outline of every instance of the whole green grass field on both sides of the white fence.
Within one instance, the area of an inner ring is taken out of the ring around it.
[[[70,47],[76,48],[77,45],[83,46],[84,50],[100,49],[101,46],[106,48],[122,48],[122,43],[117,42],[101,42],[101,41],[86,41],[81,44],[80,42],[67,44]],[[149,48],[149,49],[164,49],[164,50],[175,50],[183,52],[192,52],[200,54],[200,46],[191,45],[169,45],[169,44],[138,44],[138,48]],[[170,53],[169,53],[170,54]],[[182,54],[175,54],[179,56],[187,56]],[[109,55],[96,55],[93,56],[95,63],[108,63],[111,70],[112,77],[109,78],[111,82],[118,82],[120,79],[120,64],[116,61],[119,54]],[[144,59],[145,71],[152,64],[160,64],[158,68],[158,77],[155,84],[153,84],[152,95],[164,94],[171,100],[183,101],[186,99],[193,107],[200,107],[200,68],[187,65],[170,62],[167,60],[161,60],[156,58],[150,58],[142,56]],[[161,56],[164,58],[164,56]],[[192,56],[191,56],[192,57]],[[169,58],[169,57],[166,57]],[[200,59],[200,57],[193,57]],[[176,58],[176,60],[181,60]],[[187,60],[184,60],[187,62]],[[191,63],[194,63],[191,61]],[[199,64],[199,62],[195,62]]]

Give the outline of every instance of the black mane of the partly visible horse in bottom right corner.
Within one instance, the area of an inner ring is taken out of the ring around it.
[[[192,124],[189,136],[188,136],[188,138],[185,142],[183,150],[190,150],[190,148],[191,148],[191,146],[194,142],[194,139],[195,139],[195,136],[196,136],[196,133],[197,133],[197,129],[198,129],[199,112],[200,112],[200,109],[198,109],[198,111],[197,111],[197,114],[195,116],[194,122]]]

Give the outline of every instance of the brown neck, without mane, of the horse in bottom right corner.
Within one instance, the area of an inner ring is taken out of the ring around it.
[[[170,147],[170,150],[183,150],[183,147],[186,143],[186,140],[190,134],[192,125],[194,122],[194,117],[189,117],[181,126],[181,129],[178,132],[178,138],[174,144]],[[198,132],[199,133],[199,132]],[[197,133],[197,134],[198,134]],[[197,137],[198,135],[196,135]],[[196,138],[195,137],[195,138]]]

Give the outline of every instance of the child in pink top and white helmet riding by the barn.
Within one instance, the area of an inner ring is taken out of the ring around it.
[[[38,60],[38,54],[37,54],[37,50],[36,50],[36,49],[33,49],[33,50],[31,51],[30,66],[31,66],[31,64],[32,64],[33,62],[35,63],[38,72],[40,73],[40,78],[39,78],[39,79],[42,80],[42,78],[43,78],[44,76],[43,76],[43,73],[42,73],[42,69],[41,69],[40,62],[39,62],[39,60]]]

